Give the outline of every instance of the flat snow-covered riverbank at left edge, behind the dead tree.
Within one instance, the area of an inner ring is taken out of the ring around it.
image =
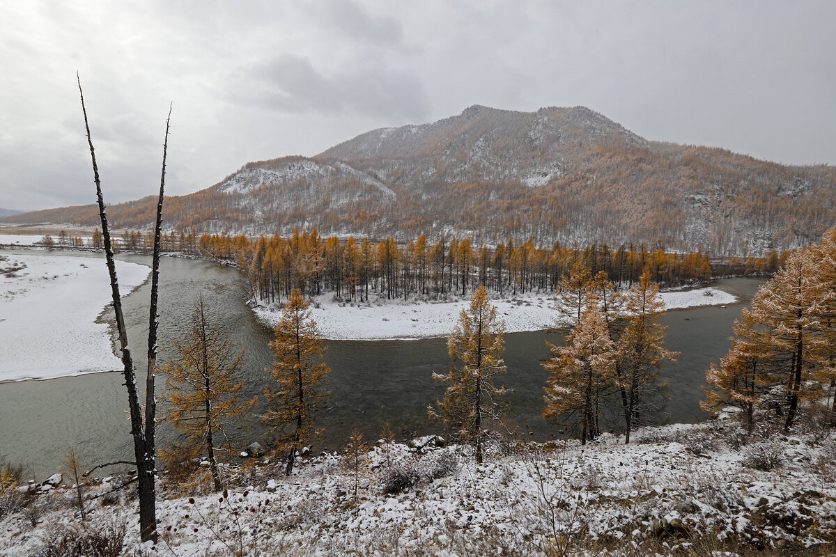
[[[3,257],[0,270],[25,268],[0,273],[0,381],[120,369],[108,326],[95,322],[110,303],[103,259],[31,252]],[[116,261],[116,272],[125,295],[145,281],[150,268]]]

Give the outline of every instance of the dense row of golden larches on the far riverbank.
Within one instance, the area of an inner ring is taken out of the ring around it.
[[[216,236],[212,236],[216,238]],[[221,247],[221,236],[213,246]],[[477,246],[469,238],[427,241],[426,235],[398,244],[393,237],[378,242],[368,237],[345,241],[322,238],[316,229],[283,238],[261,236],[255,241],[235,237],[224,256],[236,258],[254,299],[277,302],[298,288],[303,296],[332,291],[349,301],[367,301],[370,291],[394,299],[410,296],[466,296],[485,286],[495,296],[554,292],[573,266],[603,271],[616,285],[630,287],[645,269],[664,286],[700,284],[711,279],[708,256],[647,246],[605,244],[535,246],[532,240],[515,245]],[[234,245],[234,247],[232,247]],[[217,252],[216,252],[217,253]],[[233,255],[234,253],[234,255]]]

